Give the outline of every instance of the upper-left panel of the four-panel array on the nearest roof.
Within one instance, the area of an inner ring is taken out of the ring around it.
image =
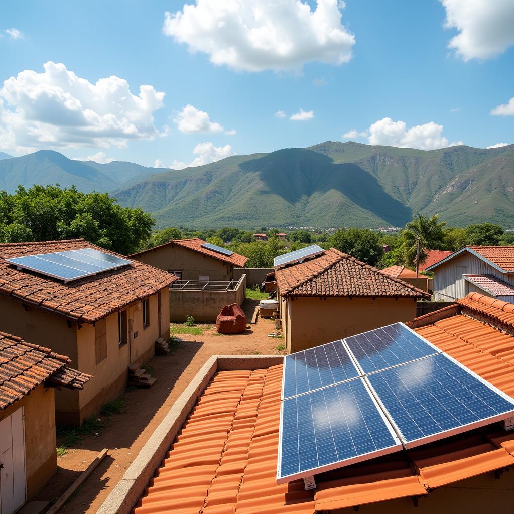
[[[287,355],[284,360],[283,398],[360,376],[341,341]]]

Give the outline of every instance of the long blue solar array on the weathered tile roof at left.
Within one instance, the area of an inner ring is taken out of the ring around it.
[[[81,279],[132,263],[128,259],[122,259],[93,248],[25,255],[6,259],[6,262],[14,264],[19,269],[36,271],[64,282]]]

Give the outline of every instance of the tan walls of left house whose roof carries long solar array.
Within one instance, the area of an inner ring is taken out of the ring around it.
[[[127,366],[144,363],[154,356],[155,340],[169,337],[169,290],[161,291],[161,320],[158,319],[157,293],[150,297],[150,326],[143,328],[142,302],[127,307],[128,343],[118,345],[118,313],[107,317],[107,357],[96,363],[95,326],[68,323],[65,318],[44,310],[27,307],[9,298],[0,297],[3,332],[22,337],[29,343],[51,348],[71,358],[70,368],[93,375],[83,390],[56,391],[55,411],[59,424],[79,425],[99,412],[102,405],[126,388]],[[134,337],[135,333],[137,337]]]

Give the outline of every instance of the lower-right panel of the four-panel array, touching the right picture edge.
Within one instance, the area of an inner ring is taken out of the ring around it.
[[[373,373],[367,379],[406,448],[514,413],[514,400],[445,354]]]

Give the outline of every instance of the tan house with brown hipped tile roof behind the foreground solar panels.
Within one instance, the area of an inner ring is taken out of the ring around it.
[[[416,300],[430,298],[335,248],[276,267],[275,277],[288,353],[408,321],[416,316]]]

